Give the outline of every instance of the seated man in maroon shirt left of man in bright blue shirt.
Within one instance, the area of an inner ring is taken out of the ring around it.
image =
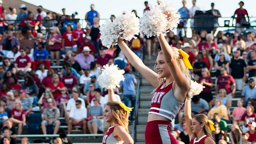
[[[26,74],[27,71],[31,71],[31,59],[26,54],[26,48],[20,48],[20,56],[16,59],[14,66],[17,72]]]

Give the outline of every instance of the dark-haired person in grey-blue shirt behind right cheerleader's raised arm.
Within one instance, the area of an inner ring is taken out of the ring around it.
[[[193,117],[196,114],[205,114],[207,115],[209,110],[208,102],[204,99],[201,99],[198,95],[193,96],[191,99],[191,116]]]

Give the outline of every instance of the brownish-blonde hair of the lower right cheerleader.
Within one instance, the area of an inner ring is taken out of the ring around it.
[[[197,114],[193,118],[195,118],[200,124],[204,123],[204,133],[213,139],[212,137],[212,131],[210,128],[210,124],[208,122],[208,117],[204,114]],[[196,134],[193,134],[193,139],[196,138]],[[214,140],[214,139],[213,139]]]

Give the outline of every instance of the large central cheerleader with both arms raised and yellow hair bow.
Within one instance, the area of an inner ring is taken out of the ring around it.
[[[178,114],[185,99],[191,98],[189,93],[191,77],[188,68],[192,69],[192,66],[186,58],[188,54],[181,49],[170,47],[163,34],[160,34],[158,39],[162,51],[158,53],[156,59],[157,73],[148,68],[121,38],[117,41],[132,66],[156,88],[148,113],[145,130],[146,143],[159,143],[165,140],[176,142],[170,132],[170,122]],[[170,102],[173,102],[173,105],[170,105]],[[159,127],[159,125],[161,126]],[[159,131],[156,133],[155,130]],[[168,133],[168,135],[163,138],[160,135],[162,132]]]

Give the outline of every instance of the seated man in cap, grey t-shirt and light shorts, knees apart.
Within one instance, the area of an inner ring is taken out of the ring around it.
[[[46,126],[51,124],[54,126],[53,134],[57,134],[60,127],[59,117],[59,108],[53,107],[53,100],[51,98],[47,99],[47,108],[44,109],[44,120],[41,123],[43,134],[46,134]]]

